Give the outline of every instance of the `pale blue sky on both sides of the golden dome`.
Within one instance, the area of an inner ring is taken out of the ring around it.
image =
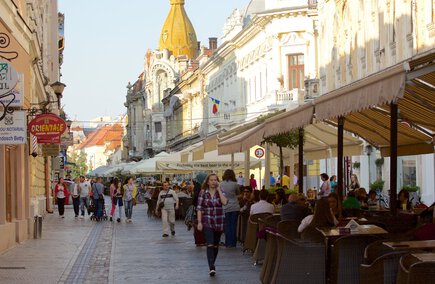
[[[70,119],[87,122],[116,117],[124,107],[128,82],[143,71],[147,49],[158,47],[170,0],[59,0],[65,14],[62,105]],[[198,40],[220,43],[226,19],[249,0],[186,0],[185,10]]]

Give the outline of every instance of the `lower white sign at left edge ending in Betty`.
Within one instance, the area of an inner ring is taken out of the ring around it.
[[[14,111],[0,121],[0,144],[26,144],[26,112]]]

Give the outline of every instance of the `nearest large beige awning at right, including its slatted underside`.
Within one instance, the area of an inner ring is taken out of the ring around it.
[[[406,73],[403,64],[333,91],[314,101],[318,119],[333,125],[344,116],[344,129],[390,155],[390,103],[399,109],[399,156],[434,153],[435,63],[432,56],[422,70]],[[416,67],[411,61],[411,66]],[[406,80],[406,81],[405,81]],[[406,84],[405,84],[406,83]],[[365,85],[364,85],[365,84]]]

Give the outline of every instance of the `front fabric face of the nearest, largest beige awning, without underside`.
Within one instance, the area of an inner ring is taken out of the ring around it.
[[[403,64],[399,64],[320,96],[314,100],[316,118],[333,119],[401,98],[405,75]]]

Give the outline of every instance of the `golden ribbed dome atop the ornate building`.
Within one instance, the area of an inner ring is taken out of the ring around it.
[[[170,0],[171,10],[166,17],[159,40],[159,50],[167,49],[174,56],[195,58],[196,33],[184,10],[184,0]]]

